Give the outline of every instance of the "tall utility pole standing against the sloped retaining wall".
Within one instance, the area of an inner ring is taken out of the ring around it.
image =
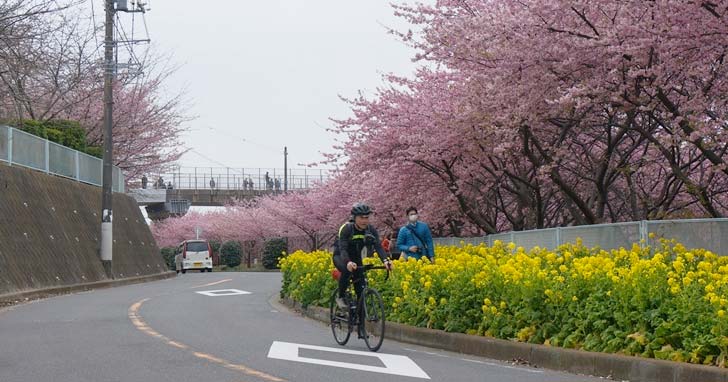
[[[112,249],[112,109],[114,76],[114,0],[106,0],[106,37],[104,39],[104,173],[101,198],[101,263],[106,275],[113,278]]]

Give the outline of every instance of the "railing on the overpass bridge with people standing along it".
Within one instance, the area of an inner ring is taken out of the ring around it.
[[[309,189],[331,177],[325,169],[288,169],[288,189]],[[141,180],[134,181],[142,185]],[[147,188],[182,190],[283,190],[285,176],[280,168],[181,167],[176,171],[151,175]]]

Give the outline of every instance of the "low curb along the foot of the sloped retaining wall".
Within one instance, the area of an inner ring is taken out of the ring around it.
[[[123,286],[123,285],[149,282],[149,281],[163,280],[163,279],[168,279],[168,278],[175,277],[175,276],[176,276],[176,273],[170,271],[170,272],[164,272],[164,273],[156,273],[156,274],[147,275],[147,276],[128,277],[128,278],[116,279],[116,280],[96,281],[96,282],[92,282],[92,283],[64,285],[64,286],[59,286],[59,287],[33,289],[33,290],[27,290],[27,291],[22,291],[22,292],[16,292],[16,293],[6,293],[6,294],[0,294],[0,303],[12,304],[12,303],[23,302],[26,300],[35,300],[35,299],[39,299],[39,298],[57,296],[57,295],[62,295],[62,294],[84,292],[84,291],[93,290],[93,289],[111,288],[111,287],[117,287],[117,286]]]

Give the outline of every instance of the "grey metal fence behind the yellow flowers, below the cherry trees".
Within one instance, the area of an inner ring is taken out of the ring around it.
[[[485,237],[444,237],[433,241],[440,245],[460,245],[463,241],[465,244],[492,246],[500,240],[530,250],[536,246],[554,249],[561,244],[574,243],[577,238],[587,247],[604,250],[631,248],[633,244],[654,248],[660,239],[675,239],[686,248],[704,248],[717,255],[728,256],[728,219],[642,220],[512,231]]]

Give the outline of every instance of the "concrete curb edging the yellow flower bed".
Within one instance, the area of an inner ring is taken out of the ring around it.
[[[327,309],[304,308],[297,301],[281,303],[315,320],[329,322]],[[399,342],[476,355],[503,361],[525,361],[531,366],[630,382],[728,382],[728,369],[651,358],[595,353],[490,337],[449,333],[387,322],[386,338]]]

